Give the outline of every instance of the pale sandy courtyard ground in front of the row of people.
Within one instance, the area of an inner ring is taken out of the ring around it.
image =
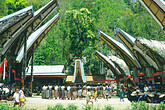
[[[94,102],[93,108],[99,107],[102,110],[106,105],[111,105],[114,110],[126,110],[130,106],[130,101],[126,98],[124,102],[120,102],[120,99],[117,97],[112,97],[108,101],[106,99],[98,99],[98,102]],[[48,106],[55,106],[58,103],[61,103],[64,107],[67,107],[69,104],[74,104],[78,106],[79,110],[86,105],[86,100],[55,100],[55,99],[41,99],[41,96],[33,96],[26,98],[26,105],[24,107],[28,109],[35,110],[46,110]]]

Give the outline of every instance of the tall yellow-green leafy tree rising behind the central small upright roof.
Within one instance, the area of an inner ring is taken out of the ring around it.
[[[71,40],[70,51],[75,57],[82,57],[82,51],[88,46],[94,45],[94,25],[90,17],[91,12],[86,8],[66,12],[68,36]]]

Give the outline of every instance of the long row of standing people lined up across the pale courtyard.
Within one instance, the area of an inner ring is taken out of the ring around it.
[[[87,96],[87,92],[91,92],[92,98],[108,98],[112,96],[113,88],[109,85],[48,85],[42,87],[43,99],[61,99],[75,100],[82,99]]]

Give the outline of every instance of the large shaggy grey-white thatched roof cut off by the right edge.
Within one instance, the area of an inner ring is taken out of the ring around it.
[[[162,70],[165,65],[165,42],[137,38],[134,49],[145,56],[154,68]]]

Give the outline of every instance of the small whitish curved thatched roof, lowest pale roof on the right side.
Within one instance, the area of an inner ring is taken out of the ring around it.
[[[124,72],[126,76],[130,75],[129,68],[124,60],[114,55],[109,56],[109,59],[112,60],[112,62],[114,62],[116,65],[118,65],[118,67],[122,69],[122,71]]]

